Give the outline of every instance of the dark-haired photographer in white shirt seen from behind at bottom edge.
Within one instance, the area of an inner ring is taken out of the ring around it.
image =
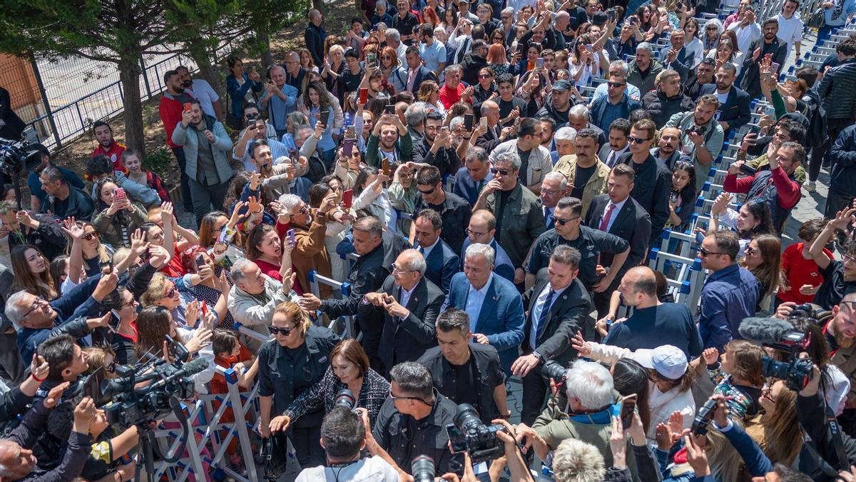
[[[307,467],[298,474],[295,482],[318,480],[399,480],[397,467],[389,465],[380,455],[361,458],[369,443],[376,446],[372,432],[366,430],[360,414],[348,407],[334,407],[321,423],[321,447],[327,461],[323,466]]]

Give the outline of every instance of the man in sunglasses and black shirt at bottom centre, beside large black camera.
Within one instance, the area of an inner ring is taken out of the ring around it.
[[[389,371],[389,399],[383,402],[372,435],[395,464],[413,473],[411,461],[428,455],[437,473],[459,472],[463,457],[449,450],[446,425],[455,423],[455,402],[434,388],[423,365],[404,362]]]

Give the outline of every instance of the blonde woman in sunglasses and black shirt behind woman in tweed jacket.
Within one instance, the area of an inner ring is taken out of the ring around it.
[[[330,353],[336,335],[313,325],[297,304],[289,301],[276,307],[270,320],[268,340],[259,350],[259,432],[270,437],[271,413],[284,413],[292,402],[324,378],[330,368]],[[324,463],[321,420],[324,410],[307,411],[288,427],[288,438],[297,452],[300,467]]]

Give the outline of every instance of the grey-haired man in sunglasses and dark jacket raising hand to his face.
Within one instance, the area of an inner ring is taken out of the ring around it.
[[[490,172],[493,179],[484,186],[473,209],[486,208],[496,216],[496,241],[516,268],[514,282],[522,283],[526,254],[545,229],[544,214],[538,196],[520,183],[520,157],[516,153],[497,155]]]

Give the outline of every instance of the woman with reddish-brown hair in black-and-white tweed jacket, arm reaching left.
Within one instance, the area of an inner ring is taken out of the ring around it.
[[[330,413],[336,395],[343,389],[351,391],[355,408],[366,408],[369,421],[374,425],[380,407],[389,398],[389,382],[369,368],[366,352],[360,342],[353,339],[342,340],[333,347],[330,368],[324,373],[324,378],[300,394],[282,415],[270,420],[270,431],[288,430],[288,426],[304,414],[315,412],[321,407],[324,407],[324,412]]]

